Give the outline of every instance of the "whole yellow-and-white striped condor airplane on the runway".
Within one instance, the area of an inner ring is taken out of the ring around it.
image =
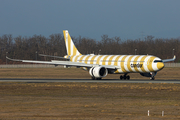
[[[120,80],[129,80],[129,73],[140,73],[142,76],[150,77],[151,80],[154,80],[157,72],[164,68],[165,62],[174,61],[176,59],[176,56],[172,59],[162,60],[152,55],[82,55],[74,45],[68,30],[63,30],[63,34],[67,55],[64,57],[40,55],[63,58],[66,61],[19,60],[11,59],[7,56],[6,58],[13,61],[28,63],[52,64],[55,66],[64,65],[65,67],[76,66],[77,68],[89,71],[93,80],[101,80],[103,77],[107,76],[107,74],[124,74],[120,75]]]

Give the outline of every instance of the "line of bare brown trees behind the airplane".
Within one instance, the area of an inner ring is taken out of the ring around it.
[[[173,55],[180,62],[180,38],[154,38],[146,36],[142,39],[122,40],[120,37],[110,38],[102,35],[101,40],[85,37],[72,37],[74,44],[82,54],[107,55],[154,55],[161,59],[170,59]],[[32,37],[0,36],[0,64],[6,64],[6,55],[15,59],[51,60],[55,58],[42,57],[38,54],[64,56],[67,54],[62,34],[52,34],[48,38],[42,35]],[[8,64],[19,62],[7,61]]]

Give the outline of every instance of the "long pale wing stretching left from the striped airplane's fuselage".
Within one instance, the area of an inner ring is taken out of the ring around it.
[[[115,67],[113,65],[98,65],[98,64],[86,64],[86,63],[81,63],[81,62],[71,62],[71,61],[57,61],[57,60],[52,60],[52,61],[34,61],[34,60],[19,60],[19,59],[11,59],[6,56],[8,60],[12,61],[20,61],[20,62],[27,62],[27,63],[41,63],[41,64],[51,64],[51,65],[66,65],[66,66],[76,66],[76,67],[96,67],[96,66],[103,66],[107,69],[118,69],[118,67]]]

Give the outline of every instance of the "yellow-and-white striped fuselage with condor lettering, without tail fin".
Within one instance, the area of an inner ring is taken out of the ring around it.
[[[161,60],[151,55],[77,55],[70,56],[71,62],[81,62],[95,65],[111,65],[117,70],[114,73],[149,73],[161,70],[164,67]]]

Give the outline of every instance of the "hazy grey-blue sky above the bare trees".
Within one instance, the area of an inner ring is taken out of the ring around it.
[[[180,37],[180,0],[0,0],[0,36]]]

